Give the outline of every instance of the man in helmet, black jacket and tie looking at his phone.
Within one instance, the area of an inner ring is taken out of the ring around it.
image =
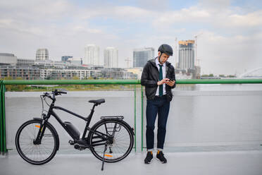
[[[168,44],[162,44],[158,48],[156,59],[147,61],[144,66],[141,85],[146,87],[146,149],[145,164],[153,159],[154,128],[156,115],[158,114],[157,154],[156,158],[162,163],[167,160],[163,155],[163,145],[166,136],[166,123],[170,101],[173,94],[171,89],[175,87],[175,68],[167,61],[173,56],[173,49]]]

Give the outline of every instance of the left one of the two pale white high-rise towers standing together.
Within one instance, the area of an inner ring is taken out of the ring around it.
[[[85,47],[83,64],[99,66],[99,47],[95,44],[88,44]]]

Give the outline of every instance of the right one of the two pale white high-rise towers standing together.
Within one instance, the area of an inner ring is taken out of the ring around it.
[[[106,68],[118,68],[118,49],[106,47],[104,50],[104,66]]]

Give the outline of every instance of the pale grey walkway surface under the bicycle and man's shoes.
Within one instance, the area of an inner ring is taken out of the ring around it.
[[[154,159],[151,164],[144,164],[143,153],[132,153],[117,163],[106,163],[101,171],[101,162],[91,154],[56,155],[51,162],[44,165],[32,165],[19,155],[11,153],[0,156],[1,175],[58,175],[58,174],[237,174],[261,175],[262,151],[225,151],[225,152],[168,152],[167,164]]]

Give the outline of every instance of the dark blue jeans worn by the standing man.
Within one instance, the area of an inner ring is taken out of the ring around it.
[[[163,149],[166,137],[166,122],[168,121],[170,102],[166,95],[146,100],[146,148],[154,148],[154,128],[158,114],[157,148]]]

